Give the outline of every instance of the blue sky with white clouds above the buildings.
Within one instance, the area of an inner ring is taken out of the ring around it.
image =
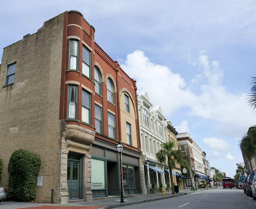
[[[0,1],[0,56],[43,22],[78,10],[95,41],[137,80],[178,132],[188,131],[211,166],[234,176],[237,142],[255,115],[255,1]],[[224,161],[224,163],[223,163]]]

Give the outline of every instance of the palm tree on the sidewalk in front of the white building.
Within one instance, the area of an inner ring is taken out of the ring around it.
[[[172,194],[175,194],[174,184],[173,184],[173,175],[172,168],[176,163],[182,162],[182,152],[180,150],[175,150],[174,142],[168,141],[161,144],[161,150],[156,153],[156,159],[159,163],[165,164],[167,160],[167,164],[169,167],[170,180],[171,180],[171,188]]]

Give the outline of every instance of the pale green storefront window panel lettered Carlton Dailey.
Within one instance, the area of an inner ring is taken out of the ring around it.
[[[92,189],[105,189],[104,161],[92,159]]]

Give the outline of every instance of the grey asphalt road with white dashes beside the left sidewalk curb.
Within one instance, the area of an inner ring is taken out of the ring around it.
[[[175,198],[158,200],[153,202],[146,202],[136,204],[125,208],[180,208],[180,209],[217,209],[217,208],[256,208],[256,200],[249,198],[243,193],[243,189],[209,189],[204,191],[195,192],[192,194],[182,195]]]

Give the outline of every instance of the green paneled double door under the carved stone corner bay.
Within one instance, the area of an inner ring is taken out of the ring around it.
[[[67,184],[69,199],[79,198],[79,162],[68,160]]]

